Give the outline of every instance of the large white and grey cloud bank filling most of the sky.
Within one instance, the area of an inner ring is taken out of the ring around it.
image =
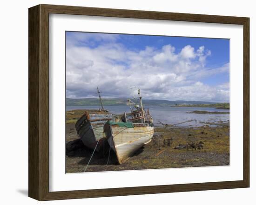
[[[186,45],[180,52],[172,45],[135,51],[117,43],[117,37],[103,36],[97,36],[101,43],[95,46],[77,46],[78,41],[87,44],[92,38],[80,36],[67,44],[67,97],[96,97],[97,86],[104,97],[128,97],[132,95],[128,88],[137,86],[146,99],[229,101],[228,87],[201,82],[229,73],[229,64],[205,67],[211,51],[204,46],[195,50]]]

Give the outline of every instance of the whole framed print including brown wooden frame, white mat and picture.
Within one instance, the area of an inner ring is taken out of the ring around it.
[[[29,8],[29,197],[249,187],[249,18]]]

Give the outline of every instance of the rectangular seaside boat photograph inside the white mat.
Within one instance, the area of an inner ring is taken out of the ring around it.
[[[65,38],[66,173],[229,166],[230,39]]]

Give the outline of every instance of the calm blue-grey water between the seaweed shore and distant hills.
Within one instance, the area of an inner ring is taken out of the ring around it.
[[[104,106],[111,113],[121,114],[123,112],[130,112],[130,108],[125,105],[113,105]],[[67,106],[68,110],[73,109],[99,109],[99,106]],[[177,124],[180,122],[190,121],[182,123],[176,126],[202,126],[205,122],[229,122],[229,114],[194,114],[188,113],[195,110],[203,110],[208,112],[218,111],[218,112],[229,112],[228,109],[216,109],[216,108],[200,108],[200,107],[169,107],[169,106],[145,106],[145,109],[149,109],[149,113],[153,116],[154,124],[156,126],[162,123],[167,124]],[[159,122],[160,121],[160,122]]]

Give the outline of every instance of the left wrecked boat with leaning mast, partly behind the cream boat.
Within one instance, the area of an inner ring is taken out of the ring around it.
[[[85,111],[84,115],[75,123],[75,129],[86,147],[100,152],[104,145],[108,143],[103,133],[104,124],[108,121],[115,121],[116,117],[109,113],[107,109],[104,109],[98,87],[97,93],[99,94],[101,108],[96,112],[89,113]]]

